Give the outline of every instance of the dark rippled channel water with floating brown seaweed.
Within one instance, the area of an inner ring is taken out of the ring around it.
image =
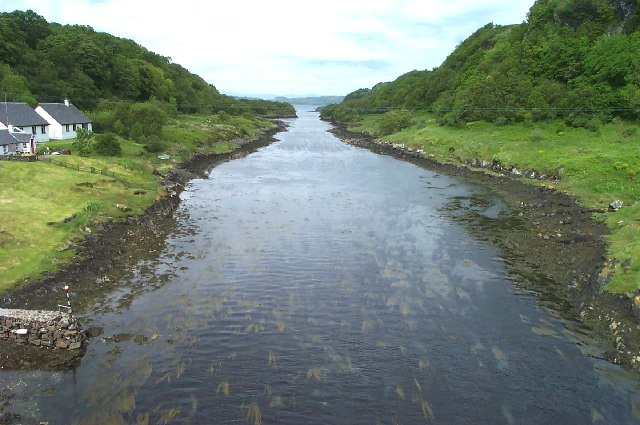
[[[638,423],[639,383],[450,219],[499,199],[299,115],[190,184],[76,371],[0,372],[24,423]]]

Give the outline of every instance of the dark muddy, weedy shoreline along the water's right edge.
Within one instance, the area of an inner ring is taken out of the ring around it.
[[[552,314],[586,328],[603,358],[640,374],[638,312],[625,295],[603,289],[609,273],[608,228],[593,219],[592,210],[540,182],[532,185],[467,166],[440,163],[376,143],[374,137],[351,132],[340,124],[334,123],[332,133],[350,145],[480,183],[498,194],[511,209],[510,217],[490,218],[469,208],[453,219],[474,237],[500,250],[519,289],[534,293],[537,302]]]

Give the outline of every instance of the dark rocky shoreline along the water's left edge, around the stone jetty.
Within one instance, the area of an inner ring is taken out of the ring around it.
[[[173,212],[180,203],[180,193],[193,178],[202,177],[215,165],[240,158],[274,142],[274,135],[286,129],[282,121],[257,140],[247,141],[229,153],[197,154],[163,176],[164,196],[143,215],[130,216],[124,222],[108,222],[84,238],[74,249],[76,261],[56,273],[23,282],[16,289],[0,294],[3,308],[51,310],[65,300],[63,287],[71,287],[74,311],[86,312],[104,294],[116,287],[118,276],[140,259],[151,258],[162,249],[174,228]],[[100,330],[87,329],[89,337]],[[78,364],[78,356],[46,350],[34,345],[9,344],[0,340],[0,369],[39,368],[60,370]],[[55,354],[51,354],[55,353]],[[15,359],[20,358],[20,362]]]

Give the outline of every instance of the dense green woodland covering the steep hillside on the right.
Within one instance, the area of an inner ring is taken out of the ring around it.
[[[561,118],[589,128],[614,117],[637,120],[639,2],[538,0],[526,22],[487,24],[441,66],[357,90],[323,116],[350,122],[390,109],[431,110],[449,125]]]

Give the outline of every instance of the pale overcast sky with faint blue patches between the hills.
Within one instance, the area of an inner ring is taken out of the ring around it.
[[[227,94],[342,95],[432,69],[533,0],[0,0],[172,58]]]

